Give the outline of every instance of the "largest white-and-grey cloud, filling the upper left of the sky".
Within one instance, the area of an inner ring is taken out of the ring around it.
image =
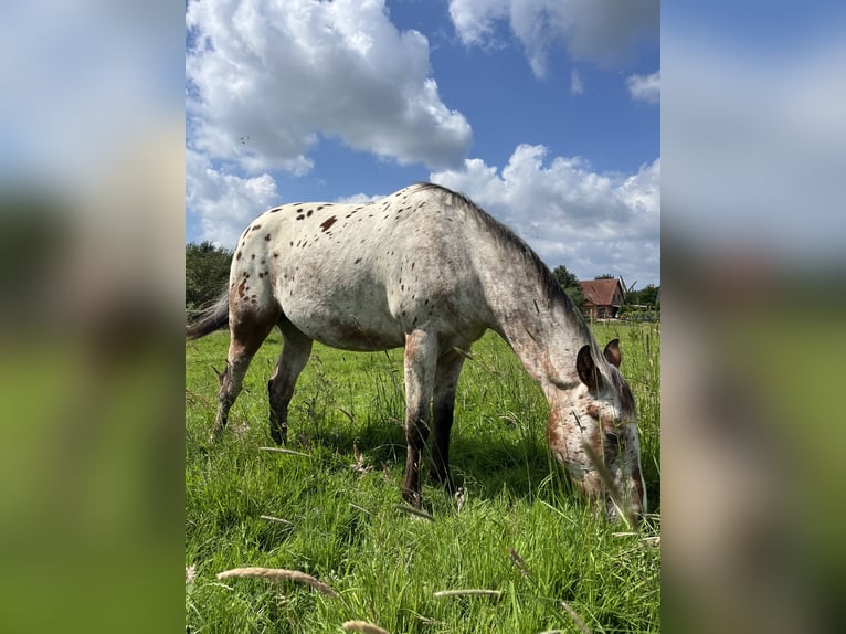
[[[194,0],[186,22],[190,142],[213,159],[304,173],[321,136],[434,169],[466,155],[426,38],[398,31],[384,0]]]

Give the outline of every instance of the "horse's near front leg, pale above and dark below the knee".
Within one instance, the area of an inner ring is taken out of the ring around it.
[[[402,497],[420,507],[420,458],[429,437],[430,400],[437,366],[437,337],[424,330],[405,336],[405,479]]]

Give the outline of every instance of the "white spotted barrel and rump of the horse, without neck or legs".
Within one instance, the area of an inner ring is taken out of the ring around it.
[[[275,302],[303,332],[338,348],[399,347],[416,328],[473,339],[485,328],[485,297],[466,210],[441,194],[406,188],[363,204],[274,208],[242,235],[231,289],[246,286],[256,307]]]

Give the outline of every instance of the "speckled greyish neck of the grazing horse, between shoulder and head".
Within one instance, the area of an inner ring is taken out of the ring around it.
[[[562,296],[548,296],[531,266],[507,264],[491,281],[488,303],[495,329],[508,341],[524,368],[549,398],[579,384],[575,358],[591,335]],[[511,261],[514,264],[515,261]]]

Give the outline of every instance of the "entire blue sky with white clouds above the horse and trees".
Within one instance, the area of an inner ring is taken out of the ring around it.
[[[659,4],[215,0],[187,10],[188,241],[433,180],[550,267],[659,284]]]

